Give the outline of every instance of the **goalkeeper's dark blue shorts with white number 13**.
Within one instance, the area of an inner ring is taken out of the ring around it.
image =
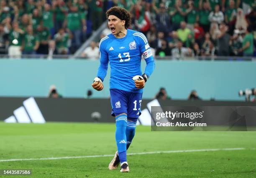
[[[115,113],[126,113],[127,117],[138,118],[141,115],[141,101],[142,93],[110,89],[112,116],[115,116]]]

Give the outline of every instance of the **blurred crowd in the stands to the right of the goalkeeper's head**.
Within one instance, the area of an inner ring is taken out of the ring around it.
[[[155,56],[255,56],[254,0],[120,0]],[[106,36],[101,35],[100,38]]]

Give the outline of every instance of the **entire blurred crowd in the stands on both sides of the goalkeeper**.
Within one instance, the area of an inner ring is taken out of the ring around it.
[[[130,28],[156,56],[255,56],[254,0],[1,0],[0,53],[72,54],[115,5],[131,12]],[[98,58],[97,42],[82,57]]]

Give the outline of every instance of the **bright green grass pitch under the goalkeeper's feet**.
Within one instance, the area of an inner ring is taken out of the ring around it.
[[[256,177],[256,132],[151,132],[150,127],[138,126],[128,153],[213,148],[245,149],[128,155],[130,173],[108,170],[112,156],[0,161],[0,169],[30,169],[35,178]],[[114,124],[0,122],[0,160],[114,155],[115,151]]]

